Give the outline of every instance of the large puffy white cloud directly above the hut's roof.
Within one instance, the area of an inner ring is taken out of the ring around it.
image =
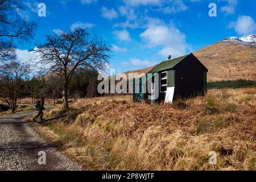
[[[149,48],[160,47],[159,54],[181,56],[187,52],[188,45],[185,42],[185,34],[181,33],[174,24],[149,24],[146,31],[140,35]]]

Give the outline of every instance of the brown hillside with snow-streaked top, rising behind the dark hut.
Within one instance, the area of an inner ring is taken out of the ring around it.
[[[256,35],[231,37],[204,47],[193,54],[208,68],[208,81],[256,80]],[[143,68],[127,73],[147,73]]]

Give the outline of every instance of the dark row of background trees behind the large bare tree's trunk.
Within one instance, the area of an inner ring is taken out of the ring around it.
[[[97,72],[78,72],[73,75],[68,85],[68,96],[74,99],[99,96],[97,92]],[[23,90],[19,98],[30,97],[31,103],[40,96],[52,98],[56,105],[56,98],[61,98],[63,92],[63,78],[49,74],[33,77],[23,81]]]

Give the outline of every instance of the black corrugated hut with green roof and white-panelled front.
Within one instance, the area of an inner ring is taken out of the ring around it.
[[[204,96],[207,72],[208,69],[192,53],[163,61],[148,72],[152,75],[159,73],[159,97],[152,102],[172,102],[177,97]],[[142,92],[142,79],[139,86],[140,93],[133,94],[134,101],[144,100],[148,96],[148,93]]]

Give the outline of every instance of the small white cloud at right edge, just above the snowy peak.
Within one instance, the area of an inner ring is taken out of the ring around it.
[[[236,22],[230,22],[229,28],[241,35],[253,34],[256,31],[256,23],[251,16],[239,16]]]

